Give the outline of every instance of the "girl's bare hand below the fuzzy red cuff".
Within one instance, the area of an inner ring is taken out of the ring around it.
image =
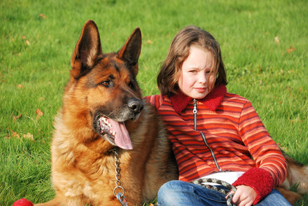
[[[251,206],[256,200],[256,192],[252,187],[246,185],[236,186],[236,192],[232,198],[232,203],[238,206]]]

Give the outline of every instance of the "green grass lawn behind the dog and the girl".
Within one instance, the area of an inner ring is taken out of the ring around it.
[[[0,1],[0,205],[54,196],[52,121],[87,19],[98,24],[103,52],[117,51],[141,28],[137,78],[144,95],[159,93],[159,62],[173,36],[186,25],[208,30],[221,43],[228,91],[248,98],[273,139],[308,164],[307,1],[6,0]],[[23,137],[28,133],[34,141]],[[305,196],[297,205],[307,203]]]

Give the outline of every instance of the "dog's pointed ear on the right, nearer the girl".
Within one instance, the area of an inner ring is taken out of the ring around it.
[[[124,46],[118,51],[119,58],[129,63],[135,76],[137,76],[138,73],[138,59],[141,52],[141,45],[141,31],[140,28],[137,27],[131,36],[129,36]]]

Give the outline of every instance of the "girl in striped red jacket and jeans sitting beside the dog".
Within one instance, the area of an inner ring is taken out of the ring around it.
[[[157,84],[161,95],[146,100],[166,124],[179,167],[179,181],[162,185],[157,205],[226,205],[225,194],[192,183],[209,177],[236,186],[236,205],[290,205],[274,189],[285,180],[287,163],[250,101],[226,91],[211,34],[195,26],[181,30]]]

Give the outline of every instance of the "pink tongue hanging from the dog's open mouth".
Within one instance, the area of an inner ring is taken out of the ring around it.
[[[133,150],[133,144],[131,144],[131,138],[129,138],[129,131],[126,130],[124,122],[115,122],[113,119],[108,120],[115,131],[115,144],[124,150]]]

